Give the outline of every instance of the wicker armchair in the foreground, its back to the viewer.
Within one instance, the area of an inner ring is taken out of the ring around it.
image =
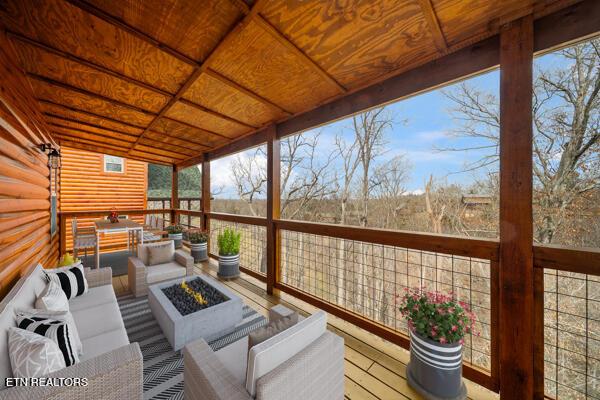
[[[270,312],[287,314],[279,305]],[[248,337],[214,352],[203,340],[184,347],[186,400],[342,400],[344,340],[318,311],[248,350]]]

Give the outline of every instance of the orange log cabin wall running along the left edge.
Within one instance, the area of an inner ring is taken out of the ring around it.
[[[50,170],[37,145],[53,142],[0,29],[0,298],[38,263],[58,258],[50,233]],[[57,205],[58,207],[58,205]]]

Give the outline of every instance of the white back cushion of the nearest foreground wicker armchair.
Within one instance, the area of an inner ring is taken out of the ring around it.
[[[246,390],[256,396],[256,381],[317,340],[327,329],[327,314],[317,311],[248,351]]]

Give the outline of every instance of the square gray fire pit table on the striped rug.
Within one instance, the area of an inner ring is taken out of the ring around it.
[[[205,275],[193,275],[185,278],[191,281],[196,278],[221,292],[227,301],[199,310],[188,315],[181,315],[171,300],[162,291],[163,288],[180,284],[182,279],[157,283],[148,290],[148,303],[154,318],[158,321],[167,340],[174,350],[181,349],[186,343],[203,338],[207,342],[226,335],[242,321],[242,299],[215,279]]]

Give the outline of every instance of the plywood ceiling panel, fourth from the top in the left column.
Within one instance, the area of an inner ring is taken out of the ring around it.
[[[45,82],[31,80],[36,98],[53,103],[65,104],[83,111],[114,118],[119,121],[132,122],[138,126],[146,126],[152,121],[152,115],[134,111],[114,103],[88,96],[82,93],[51,86]]]

